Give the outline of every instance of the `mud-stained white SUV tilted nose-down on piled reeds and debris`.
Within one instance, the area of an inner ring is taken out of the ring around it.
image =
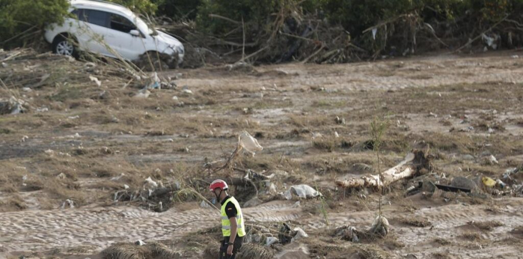
[[[74,18],[50,25],[44,34],[54,53],[77,56],[78,51],[86,51],[128,61],[138,61],[149,53],[153,58],[160,56],[171,68],[183,62],[183,44],[156,31],[128,8],[98,0],[70,3]]]

